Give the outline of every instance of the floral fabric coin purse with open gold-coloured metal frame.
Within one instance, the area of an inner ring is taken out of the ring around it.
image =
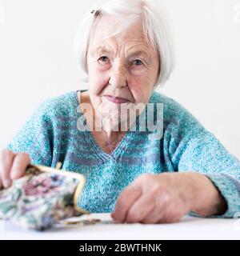
[[[90,214],[78,207],[84,175],[56,168],[29,165],[22,178],[0,190],[0,219],[18,226],[46,230],[71,217]]]

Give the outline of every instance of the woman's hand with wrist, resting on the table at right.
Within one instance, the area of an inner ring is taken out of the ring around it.
[[[119,195],[111,217],[128,223],[178,222],[190,210],[214,213],[212,203],[219,200],[218,190],[203,174],[142,174]]]

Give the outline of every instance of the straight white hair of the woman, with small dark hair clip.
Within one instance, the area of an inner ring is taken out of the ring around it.
[[[80,22],[74,41],[74,51],[82,70],[88,75],[87,50],[90,42],[90,34],[95,22],[102,15],[109,14],[122,19],[118,30],[114,27],[113,36],[129,27],[138,18],[142,18],[142,29],[147,42],[158,50],[159,66],[158,78],[154,84],[163,86],[174,70],[175,53],[173,37],[170,30],[166,10],[163,10],[158,0],[109,0],[102,5],[92,6],[86,17]]]

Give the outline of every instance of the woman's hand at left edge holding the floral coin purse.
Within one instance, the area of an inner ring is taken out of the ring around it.
[[[30,164],[30,155],[24,152],[0,151],[0,189],[11,186],[12,180],[21,178]]]

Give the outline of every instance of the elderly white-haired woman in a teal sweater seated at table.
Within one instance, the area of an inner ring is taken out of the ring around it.
[[[240,162],[188,110],[155,91],[174,68],[158,3],[110,0],[96,7],[77,46],[88,90],[50,98],[34,111],[2,150],[0,185],[10,186],[30,162],[62,162],[86,176],[78,205],[112,212],[117,222],[178,222],[187,213],[233,218],[240,211]],[[142,129],[140,116],[152,124]]]

